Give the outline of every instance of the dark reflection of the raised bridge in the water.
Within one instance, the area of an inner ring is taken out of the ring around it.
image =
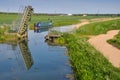
[[[31,66],[33,65],[33,59],[31,52],[28,48],[28,42],[26,40],[22,40],[19,42],[19,47],[22,53],[22,56],[24,58],[24,62],[26,64],[26,68],[30,69]]]

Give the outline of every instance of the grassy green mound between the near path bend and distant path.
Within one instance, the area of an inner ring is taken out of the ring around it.
[[[79,35],[98,35],[105,34],[113,29],[120,29],[120,19],[87,24],[80,27],[76,32]]]

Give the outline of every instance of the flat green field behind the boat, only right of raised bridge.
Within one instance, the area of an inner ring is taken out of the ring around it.
[[[53,21],[53,25],[55,27],[57,26],[65,26],[65,25],[72,25],[76,24],[80,21],[80,19],[94,19],[94,18],[107,18],[110,16],[48,16],[48,15],[33,15],[32,16],[32,21],[31,21],[31,26],[33,26],[34,23],[39,22],[39,21],[47,21],[48,19],[51,19]]]

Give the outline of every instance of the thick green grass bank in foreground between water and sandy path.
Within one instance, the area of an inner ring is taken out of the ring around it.
[[[63,34],[76,80],[119,80],[120,69],[111,63],[88,42],[74,34]]]

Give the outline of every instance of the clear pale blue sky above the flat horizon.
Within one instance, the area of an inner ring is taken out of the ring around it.
[[[34,8],[35,13],[120,13],[120,0],[1,0],[0,12],[20,12],[28,5]]]

